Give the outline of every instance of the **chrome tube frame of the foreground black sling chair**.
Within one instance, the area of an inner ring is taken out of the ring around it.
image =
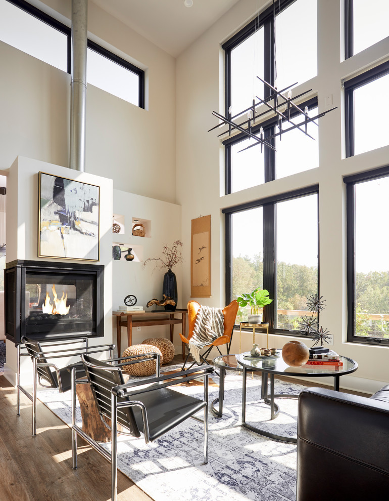
[[[132,355],[135,357],[136,355]],[[149,361],[156,359],[157,360],[157,375],[152,379],[142,379],[140,381],[129,382],[125,385],[119,385],[111,388],[111,427],[107,425],[100,412],[100,418],[104,425],[111,430],[111,454],[104,449],[99,442],[96,442],[91,437],[89,437],[86,433],[83,432],[81,428],[79,428],[76,424],[76,385],[85,384],[83,380],[77,380],[76,369],[73,367],[71,369],[72,372],[72,458],[73,458],[73,469],[77,468],[77,434],[80,435],[93,449],[98,451],[103,457],[106,458],[107,461],[111,462],[111,499],[112,501],[117,501],[117,470],[118,470],[118,461],[117,461],[117,435],[124,434],[134,436],[133,433],[124,432],[123,430],[118,431],[118,409],[123,407],[138,407],[141,411],[142,422],[143,422],[143,435],[145,443],[149,443],[152,441],[150,439],[149,433],[149,421],[147,408],[145,405],[139,400],[123,400],[126,397],[132,397],[135,395],[139,395],[144,392],[149,392],[159,388],[165,388],[168,386],[173,386],[178,383],[178,380],[192,381],[196,379],[204,378],[204,420],[201,420],[199,417],[195,415],[190,415],[192,419],[199,421],[200,423],[204,423],[204,463],[208,463],[208,378],[209,374],[214,372],[215,368],[211,365],[206,365],[202,369],[199,370],[198,367],[193,369],[187,369],[185,371],[180,371],[175,374],[168,375],[160,375],[160,355],[157,353],[147,353],[144,357],[148,356],[149,358],[143,358],[141,360],[131,360],[124,363],[117,363],[112,365],[111,367],[104,367],[109,371],[120,371],[121,367],[127,364],[139,363],[143,361]],[[114,363],[121,360],[128,360],[131,356],[110,359],[106,360],[107,363]],[[82,361],[85,365],[89,367],[99,368],[101,366],[93,365],[87,362],[83,356],[81,356]],[[171,381],[173,379],[173,381]],[[170,380],[170,381],[167,381]],[[149,386],[144,388],[144,385],[148,384]],[[136,389],[137,386],[143,386],[143,388]],[[102,386],[103,387],[103,386]],[[134,389],[135,388],[135,389]],[[134,389],[134,390],[133,390]],[[131,391],[132,390],[132,391]],[[120,401],[122,400],[122,401]],[[198,411],[196,411],[198,412]],[[195,412],[195,413],[196,413]],[[140,432],[139,432],[140,436]]]

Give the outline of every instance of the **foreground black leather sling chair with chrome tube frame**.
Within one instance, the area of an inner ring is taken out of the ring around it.
[[[133,355],[132,358],[137,355]],[[76,369],[72,371],[72,452],[73,469],[77,468],[77,434],[111,462],[111,496],[117,500],[117,434],[140,437],[143,433],[145,443],[153,442],[188,417],[204,423],[204,463],[208,463],[208,376],[215,369],[205,365],[169,375],[160,375],[160,355],[148,353],[141,359],[131,360],[131,356],[102,362],[89,356],[81,357],[92,393],[104,425],[111,430],[111,451],[107,452],[76,424],[76,385],[84,384],[77,380]],[[149,360],[157,361],[157,377],[124,383],[121,367]],[[125,360],[123,362],[123,360]],[[115,365],[112,365],[115,363]],[[110,365],[111,364],[111,365]],[[174,380],[172,381],[172,378]],[[184,380],[204,378],[204,399],[179,393],[169,386]],[[144,387],[145,384],[149,386]],[[142,386],[142,388],[139,388]],[[204,421],[194,416],[204,410]],[[111,426],[106,419],[111,420]],[[120,429],[118,425],[125,428]]]

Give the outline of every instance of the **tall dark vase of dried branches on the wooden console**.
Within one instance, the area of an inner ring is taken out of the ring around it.
[[[163,258],[148,258],[143,262],[143,267],[147,265],[147,263],[150,263],[150,261],[157,261],[156,268],[167,268],[168,271],[165,273],[163,280],[162,294],[164,297],[166,296],[166,298],[171,298],[174,301],[174,303],[167,303],[164,305],[165,310],[169,311],[175,311],[177,306],[177,279],[172,272],[172,268],[183,261],[179,247],[182,247],[182,242],[180,242],[180,240],[176,240],[171,247],[165,244],[162,249]]]

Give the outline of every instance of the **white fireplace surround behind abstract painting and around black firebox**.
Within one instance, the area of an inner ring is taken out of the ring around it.
[[[112,343],[112,179],[75,171],[59,165],[25,158],[16,158],[7,179],[7,263],[14,260],[51,261],[60,259],[38,258],[38,173],[76,179],[100,186],[100,261],[104,265],[104,338],[91,340],[90,345]],[[74,263],[90,261],[65,260]],[[15,385],[16,348],[7,340],[5,377]],[[30,372],[30,361],[23,360],[21,375]]]

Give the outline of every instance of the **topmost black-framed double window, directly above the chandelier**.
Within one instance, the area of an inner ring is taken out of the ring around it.
[[[304,26],[304,36],[290,37],[293,26]],[[317,1],[277,0],[227,40],[222,49],[225,113],[230,107],[232,115],[250,107],[255,95],[270,95],[257,75],[271,85],[276,83],[278,90],[302,84],[317,75]]]

